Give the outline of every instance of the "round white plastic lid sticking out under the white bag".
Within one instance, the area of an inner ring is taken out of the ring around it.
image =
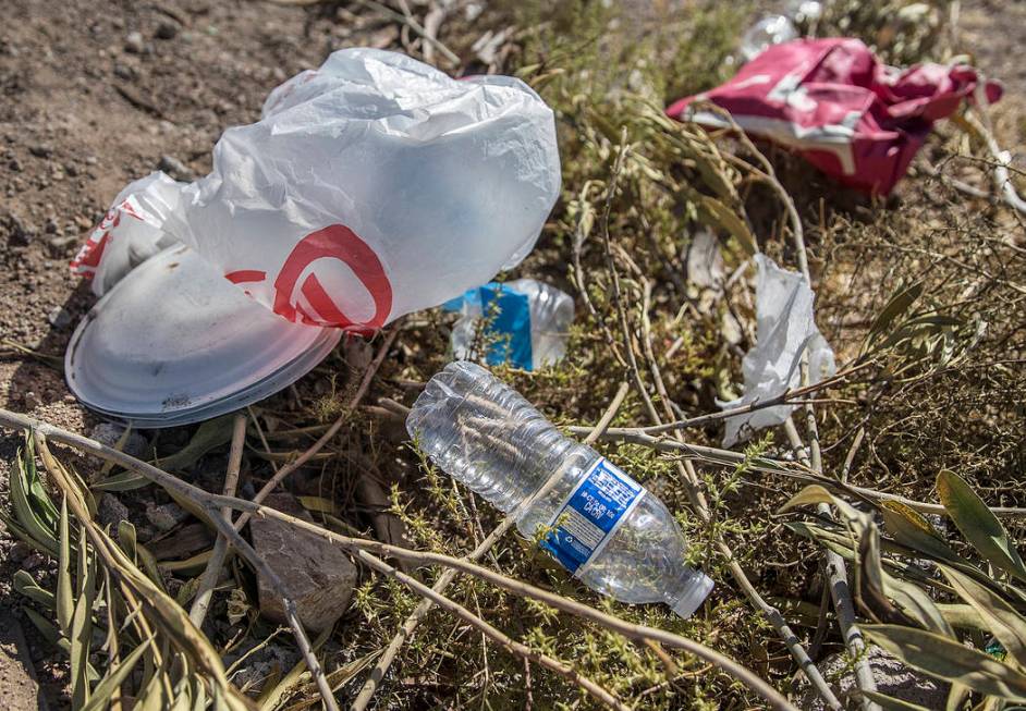
[[[90,409],[137,428],[171,427],[289,387],[341,338],[339,329],[276,316],[176,246],[97,302],[72,335],[64,370]]]

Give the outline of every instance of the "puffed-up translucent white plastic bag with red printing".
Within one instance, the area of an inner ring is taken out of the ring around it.
[[[523,82],[346,49],[228,128],[206,177],[129,185],[72,268],[100,295],[182,243],[291,321],[368,331],[515,266],[559,188],[552,111]]]

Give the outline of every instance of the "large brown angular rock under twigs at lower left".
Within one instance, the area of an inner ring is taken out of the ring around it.
[[[272,494],[264,505],[313,522],[292,494]],[[357,569],[342,549],[274,518],[255,516],[249,530],[253,548],[281,578],[307,629],[321,632],[345,612],[356,586]],[[260,612],[269,620],[285,623],[284,606],[274,589],[262,577],[258,588]]]

